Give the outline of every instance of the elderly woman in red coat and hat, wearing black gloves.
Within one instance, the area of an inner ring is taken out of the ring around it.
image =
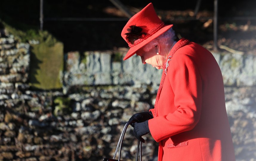
[[[129,121],[142,142],[159,143],[158,161],[235,161],[225,107],[223,78],[213,55],[185,38],[175,41],[172,24],[162,22],[152,3],[135,14],[121,36],[143,64],[163,69],[155,108]]]

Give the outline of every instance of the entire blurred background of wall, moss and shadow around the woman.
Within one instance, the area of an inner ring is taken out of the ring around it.
[[[161,70],[122,61],[121,30],[149,2],[178,38],[213,53],[237,161],[256,160],[255,0],[1,1],[0,160],[113,156],[124,123],[154,107],[160,83]],[[145,140],[143,160],[156,160],[158,144]],[[122,158],[135,148],[127,129]]]

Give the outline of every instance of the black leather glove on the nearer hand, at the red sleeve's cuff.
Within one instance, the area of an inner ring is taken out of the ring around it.
[[[145,140],[141,136],[146,135],[149,132],[150,131],[149,131],[148,120],[146,120],[142,123],[135,123],[134,128],[133,128],[133,134],[142,143],[145,143]]]

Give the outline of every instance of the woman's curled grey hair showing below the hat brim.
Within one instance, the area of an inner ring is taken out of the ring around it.
[[[169,30],[167,30],[166,32],[162,33],[161,35],[159,35],[157,38],[153,39],[152,41],[150,41],[148,44],[146,44],[142,49],[145,52],[148,52],[149,50],[151,50],[153,47],[155,47],[157,45],[158,42],[166,44],[165,46],[168,47],[170,40],[174,41],[176,39],[176,35],[175,35],[175,31],[170,28]]]

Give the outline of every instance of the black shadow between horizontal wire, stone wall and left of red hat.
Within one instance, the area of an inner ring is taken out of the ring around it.
[[[124,25],[115,21],[49,21],[44,27],[64,43],[64,52],[83,52],[126,47],[121,37]]]

